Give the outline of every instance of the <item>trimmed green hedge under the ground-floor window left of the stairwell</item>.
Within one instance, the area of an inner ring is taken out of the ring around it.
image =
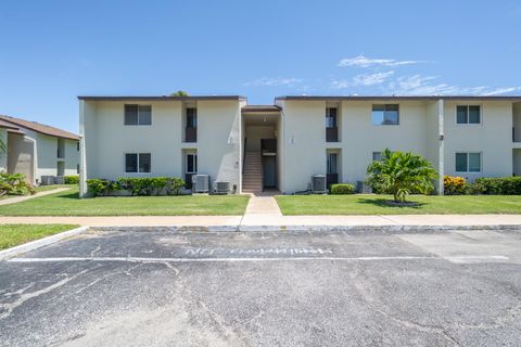
[[[87,188],[93,196],[130,192],[132,195],[179,195],[185,181],[177,177],[118,178],[117,180],[88,179]]]

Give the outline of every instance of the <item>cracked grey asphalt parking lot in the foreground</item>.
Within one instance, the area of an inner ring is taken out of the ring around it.
[[[2,346],[519,346],[521,232],[89,231],[0,262]]]

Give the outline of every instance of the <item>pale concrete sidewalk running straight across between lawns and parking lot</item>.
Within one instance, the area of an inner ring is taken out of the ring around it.
[[[92,227],[500,227],[521,226],[521,215],[399,215],[399,216],[129,216],[129,217],[0,217],[0,223],[71,223]],[[306,228],[305,228],[306,229]]]

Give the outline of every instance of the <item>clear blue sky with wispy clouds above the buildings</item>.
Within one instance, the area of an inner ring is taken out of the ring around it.
[[[521,94],[519,1],[0,2],[0,114],[77,95]]]

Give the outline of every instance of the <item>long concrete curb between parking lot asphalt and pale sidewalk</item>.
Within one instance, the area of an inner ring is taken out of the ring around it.
[[[90,227],[98,231],[135,231],[135,232],[347,232],[360,233],[418,233],[439,232],[449,230],[521,230],[520,224],[497,226],[118,226],[118,227]]]

